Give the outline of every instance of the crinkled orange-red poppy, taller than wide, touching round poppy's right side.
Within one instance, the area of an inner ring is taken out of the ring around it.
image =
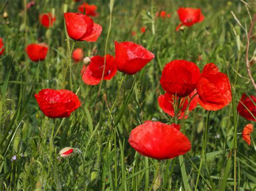
[[[197,84],[199,104],[206,110],[217,111],[232,100],[230,80],[219,72],[214,63],[205,65]]]

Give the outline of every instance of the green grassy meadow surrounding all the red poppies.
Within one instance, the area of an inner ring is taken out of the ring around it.
[[[244,126],[255,122],[237,111],[242,94],[255,95],[255,2],[86,2],[97,6],[91,18],[103,30],[96,42],[73,44],[63,13],[78,12],[83,2],[36,0],[27,8],[28,0],[0,1],[0,190],[255,190],[255,131],[250,146],[242,139]],[[201,9],[205,18],[176,31],[180,7]],[[156,17],[162,10],[170,17]],[[39,22],[46,12],[56,17],[50,27]],[[83,58],[114,56],[114,41],[142,45],[154,59],[134,75],[118,71],[96,86],[85,84],[85,63],[72,60],[72,49],[82,48]],[[25,49],[32,43],[47,44],[45,60],[31,61]],[[200,71],[214,63],[229,77],[232,101],[217,111],[198,104],[184,121],[166,114],[158,96],[172,60],[194,62]],[[70,117],[46,117],[34,96],[45,88],[71,90],[80,107]],[[145,121],[181,124],[191,150],[168,160],[140,155],[128,139]],[[65,147],[73,153],[63,158]]]

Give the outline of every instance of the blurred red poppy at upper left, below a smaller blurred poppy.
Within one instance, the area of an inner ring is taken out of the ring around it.
[[[43,61],[48,53],[48,46],[44,43],[30,44],[26,47],[26,53],[34,62]]]

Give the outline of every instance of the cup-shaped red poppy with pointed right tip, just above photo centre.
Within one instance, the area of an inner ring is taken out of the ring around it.
[[[132,42],[118,43],[114,41],[116,49],[116,65],[120,72],[133,75],[141,70],[154,58],[154,54]]]

